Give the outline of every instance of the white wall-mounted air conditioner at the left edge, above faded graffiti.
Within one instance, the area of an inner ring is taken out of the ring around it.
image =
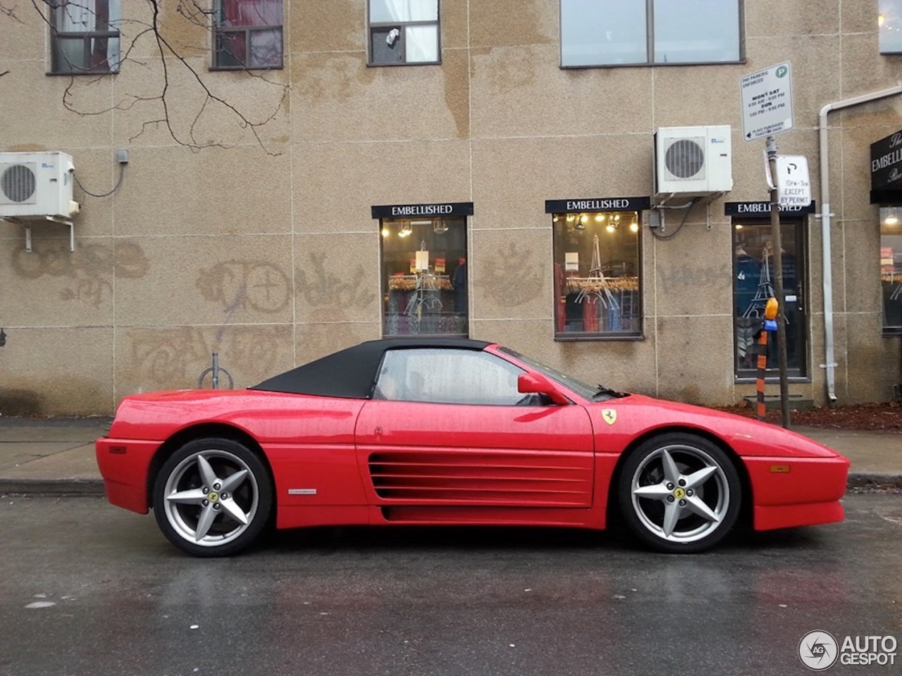
[[[65,152],[0,152],[0,217],[44,220],[78,214],[74,172]]]

